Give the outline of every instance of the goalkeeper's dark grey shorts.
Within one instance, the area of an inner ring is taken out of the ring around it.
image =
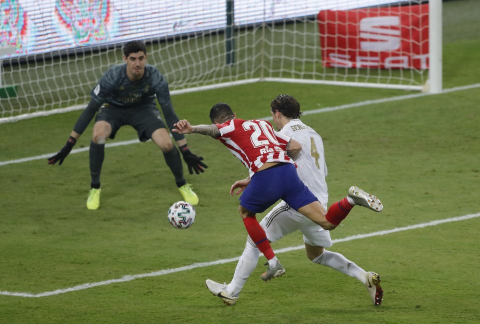
[[[123,125],[131,125],[137,130],[138,139],[147,141],[159,128],[166,128],[155,103],[136,105],[134,107],[119,107],[112,104],[99,109],[95,121],[104,120],[112,126],[110,138],[114,139],[117,131]]]

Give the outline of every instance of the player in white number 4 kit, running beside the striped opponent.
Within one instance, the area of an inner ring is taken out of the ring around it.
[[[301,143],[300,155],[295,160],[298,165],[298,175],[326,210],[328,201],[327,183],[325,181],[327,166],[322,138],[314,129],[300,120],[300,104],[294,97],[280,94],[271,102],[270,106],[273,122],[280,129],[280,133]],[[238,187],[236,186],[237,182],[232,185],[231,194]],[[243,190],[238,190],[237,194],[241,191]],[[341,202],[345,205],[350,203],[352,206],[358,204],[355,203],[355,197],[363,193],[365,192],[353,186],[349,189],[349,195],[345,198],[348,202],[342,200],[335,207],[343,209],[345,206]],[[367,207],[375,210],[372,206]],[[273,207],[262,219],[260,225],[264,228],[267,238],[271,242],[300,230],[303,233],[307,257],[312,262],[332,267],[357,278],[366,286],[373,304],[381,304],[383,290],[380,286],[378,273],[367,272],[342,254],[326,250],[325,247],[332,246],[330,231],[323,229],[320,225],[294,210],[285,201],[280,201]],[[207,279],[206,285],[209,290],[222,298],[226,304],[235,304],[247,278],[257,266],[259,254],[259,249],[251,238],[247,237],[245,249],[237,263],[232,281],[229,284],[221,284]]]

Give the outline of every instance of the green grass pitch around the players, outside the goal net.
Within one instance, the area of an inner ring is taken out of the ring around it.
[[[444,2],[445,88],[480,80],[480,25],[470,19],[480,11],[476,2]],[[284,92],[305,111],[415,93],[256,83],[176,95],[173,103],[193,123],[207,123],[217,101],[259,118]],[[384,204],[381,213],[355,207],[332,238],[478,214],[478,102],[480,87],[473,87],[305,115],[324,139],[329,202],[356,184]],[[57,151],[79,114],[0,125],[0,161]],[[90,135],[91,125],[76,148],[87,147]],[[134,138],[124,127],[113,142]],[[96,211],[85,208],[88,152],[71,154],[62,166],[46,159],[0,165],[0,291],[42,293],[239,256],[246,231],[228,190],[247,171],[220,142],[187,139],[209,167],[201,175],[185,168],[200,197],[196,222],[185,230],[167,221],[181,196],[152,142],[106,149]],[[260,259],[233,307],[204,285],[207,278],[229,282],[236,262],[227,262],[37,298],[0,294],[0,322],[470,323],[480,316],[479,229],[474,217],[334,244],[331,250],[382,275],[380,307],[361,283],[313,264],[299,249],[278,254],[287,273],[267,283]],[[297,232],[273,247],[302,243]]]

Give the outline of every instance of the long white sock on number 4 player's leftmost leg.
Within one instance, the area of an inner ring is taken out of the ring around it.
[[[232,281],[227,285],[227,293],[231,297],[237,297],[240,294],[245,282],[258,263],[260,250],[255,246],[250,237],[247,238],[245,249],[238,260]]]

